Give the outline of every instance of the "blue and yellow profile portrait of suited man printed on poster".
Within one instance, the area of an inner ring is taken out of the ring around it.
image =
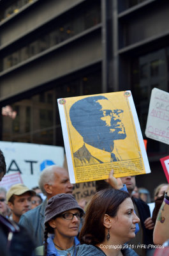
[[[84,145],[73,152],[75,166],[122,160],[114,141],[127,137],[123,114],[123,109],[115,108],[103,95],[85,97],[71,106],[71,124],[84,140]]]

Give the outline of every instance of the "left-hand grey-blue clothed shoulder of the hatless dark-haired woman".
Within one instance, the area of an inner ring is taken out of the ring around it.
[[[91,244],[80,244],[77,246],[77,256],[104,256],[105,253]]]

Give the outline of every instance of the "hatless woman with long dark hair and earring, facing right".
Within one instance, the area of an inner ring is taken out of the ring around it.
[[[125,243],[135,237],[139,221],[127,192],[117,189],[99,191],[85,212],[77,256],[136,256],[132,244]]]

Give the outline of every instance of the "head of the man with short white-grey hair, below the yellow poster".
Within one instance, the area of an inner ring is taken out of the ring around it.
[[[66,169],[59,166],[49,166],[43,170],[40,176],[39,186],[44,195],[50,197],[73,192],[73,185]]]

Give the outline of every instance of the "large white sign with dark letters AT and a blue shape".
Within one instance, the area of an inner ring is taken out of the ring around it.
[[[6,175],[1,186],[7,190],[11,185],[24,183],[28,188],[38,186],[41,171],[52,164],[62,166],[64,148],[0,141],[0,148],[6,161]]]

